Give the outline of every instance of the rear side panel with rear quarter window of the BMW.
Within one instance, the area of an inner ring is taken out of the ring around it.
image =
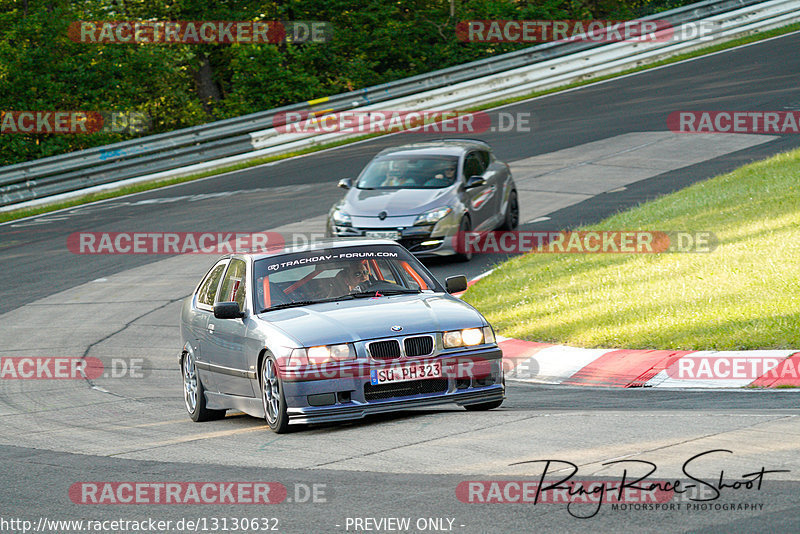
[[[218,261],[206,277],[200,282],[197,293],[194,296],[192,306],[192,316],[189,321],[189,331],[195,340],[195,358],[197,362],[197,372],[203,386],[208,391],[218,391],[216,376],[209,371],[208,364],[214,358],[213,344],[211,343],[208,321],[214,316],[214,301],[219,291],[222,275],[225,267],[228,266],[228,259]]]

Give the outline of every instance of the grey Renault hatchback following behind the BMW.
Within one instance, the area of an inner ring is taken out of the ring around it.
[[[393,239],[417,256],[469,253],[458,232],[514,230],[519,204],[511,171],[491,147],[472,139],[444,139],[380,152],[328,214],[331,237]]]

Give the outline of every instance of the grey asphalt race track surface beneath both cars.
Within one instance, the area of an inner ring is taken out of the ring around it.
[[[797,135],[707,136],[691,141],[702,147],[692,153],[681,136],[658,133],[669,133],[666,117],[673,111],[800,110],[798,49],[795,33],[507,106],[489,113],[530,113],[534,130],[480,137],[512,164],[525,201],[522,220],[529,221],[522,228],[596,221],[800,146]],[[183,407],[176,324],[180,300],[213,258],[78,255],[67,249],[67,237],[80,231],[317,232],[341,196],[339,178],[355,176],[380,148],[425,137],[387,136],[0,225],[0,356],[141,364],[140,372],[91,381],[0,380],[0,531],[22,532],[2,523],[10,519],[39,526],[40,518],[153,518],[172,521],[164,529],[169,532],[195,530],[186,520],[202,521],[207,528],[196,529],[201,532],[235,532],[220,521],[243,517],[275,518],[268,525],[281,532],[797,531],[796,390],[510,382],[503,406],[486,413],[444,407],[281,436],[241,414],[196,424]],[[661,166],[646,165],[651,146],[663,156]],[[580,165],[570,165],[584,156]],[[543,162],[552,168],[542,170]],[[587,166],[602,172],[588,180],[580,174]],[[469,264],[428,265],[440,279],[471,277],[502,259],[480,255]],[[692,460],[706,451],[717,452]],[[645,464],[633,460],[648,461],[656,467],[648,480],[686,481],[692,475],[707,491],[658,509],[459,500],[457,488],[468,481],[536,481],[541,460],[553,460],[548,480],[575,465],[573,480],[587,481],[618,479],[626,468],[629,477],[645,476]],[[607,464],[617,460],[630,463]],[[746,483],[762,468],[760,485]],[[766,472],[772,470],[788,472]],[[270,505],[74,503],[70,488],[92,481],[276,482],[287,495]],[[408,518],[411,526],[401,530],[389,518]],[[214,519],[217,528],[211,528]]]

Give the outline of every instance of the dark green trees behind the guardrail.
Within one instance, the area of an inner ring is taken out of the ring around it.
[[[160,133],[530,46],[460,42],[460,20],[630,19],[688,3],[0,0],[0,110],[138,111],[153,119],[147,133]],[[326,43],[99,45],[70,40],[78,20],[314,20],[330,22],[334,34]],[[0,165],[135,136],[0,134]]]

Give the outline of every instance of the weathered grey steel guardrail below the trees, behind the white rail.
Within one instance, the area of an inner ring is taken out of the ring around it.
[[[664,20],[673,26],[696,22],[709,17],[736,12],[749,6],[764,7],[775,4],[763,0],[707,0],[641,20]],[[777,1],[777,3],[785,3]],[[751,21],[745,20],[744,23]],[[19,203],[29,204],[34,199],[46,198],[102,184],[112,184],[124,180],[146,177],[180,176],[197,172],[192,170],[198,164],[258,157],[263,149],[275,145],[272,153],[291,151],[298,146],[313,144],[308,139],[293,142],[281,139],[275,134],[276,117],[283,117],[289,111],[329,112],[353,108],[369,109],[378,103],[409,101],[436,101],[441,105],[442,98],[429,98],[431,95],[448,92],[451,88],[471,84],[481,84],[487,80],[497,80],[506,74],[519,76],[530,67],[543,63],[567,62],[570,57],[598,55],[603,50],[621,43],[601,42],[549,42],[502,56],[437,70],[382,85],[342,93],[331,97],[283,106],[242,117],[195,126],[173,132],[152,135],[123,141],[102,147],[71,152],[33,160],[0,168],[0,206],[14,207]],[[600,50],[598,50],[600,49]],[[457,101],[459,91],[455,94]],[[404,99],[404,100],[399,100]],[[327,140],[334,134],[317,136]],[[341,136],[340,136],[341,137]],[[270,139],[273,138],[273,139]],[[261,149],[261,150],[258,150]],[[222,166],[222,164],[218,165]],[[188,168],[188,169],[187,169]],[[211,168],[211,167],[209,167]]]

